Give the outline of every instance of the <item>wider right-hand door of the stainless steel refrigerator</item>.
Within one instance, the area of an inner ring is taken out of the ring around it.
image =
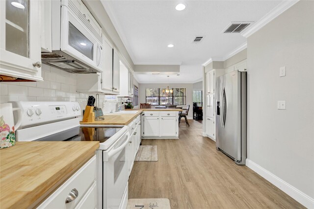
[[[237,129],[241,127],[241,117],[238,114],[241,113],[240,105],[240,76],[239,72],[233,71],[225,75],[225,97],[223,98],[226,103],[226,112],[225,112],[225,128],[224,128],[224,145],[223,151],[226,152],[231,157],[237,159],[238,151],[238,139],[241,139],[241,136],[238,136]]]

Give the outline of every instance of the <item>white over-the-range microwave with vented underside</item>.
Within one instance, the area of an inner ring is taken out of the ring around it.
[[[102,71],[102,33],[82,8],[80,0],[52,1],[52,52],[42,52],[43,63],[72,73]]]

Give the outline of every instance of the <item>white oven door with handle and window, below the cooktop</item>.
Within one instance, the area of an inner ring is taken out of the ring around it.
[[[128,184],[127,145],[130,134],[126,132],[117,140],[113,148],[103,152],[104,187],[103,208],[118,209]]]

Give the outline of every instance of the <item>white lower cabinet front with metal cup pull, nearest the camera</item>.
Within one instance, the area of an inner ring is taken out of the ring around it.
[[[94,156],[40,204],[38,209],[97,208],[96,173]]]

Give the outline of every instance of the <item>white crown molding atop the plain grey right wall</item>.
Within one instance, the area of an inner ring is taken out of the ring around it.
[[[241,35],[245,38],[248,38],[256,31],[260,30],[263,26],[265,26],[270,21],[274,20],[280,14],[285,12],[288,8],[293,6],[299,0],[284,0],[279,3],[275,8],[273,8],[270,12],[268,12],[265,16],[263,16],[259,21],[253,24],[251,27],[246,29]]]

